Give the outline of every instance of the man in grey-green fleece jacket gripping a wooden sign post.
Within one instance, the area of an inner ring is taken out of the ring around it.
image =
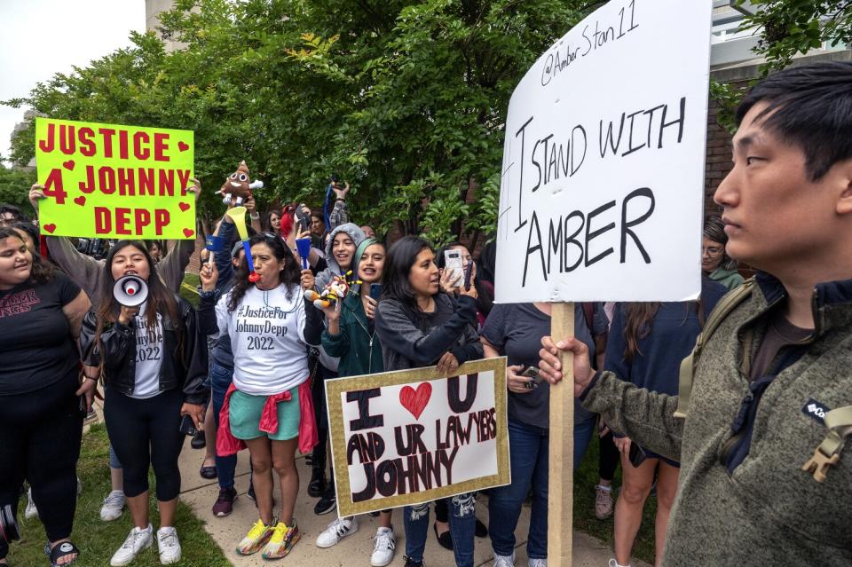
[[[540,369],[558,382],[571,351],[583,406],[681,461],[662,564],[852,565],[852,63],[772,75],[737,118],[714,201],[759,272],[708,319],[691,395],[595,373],[572,337],[545,337]]]

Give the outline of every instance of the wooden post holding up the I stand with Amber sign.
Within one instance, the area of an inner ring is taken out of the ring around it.
[[[574,303],[553,303],[550,335],[574,335]],[[548,446],[548,562],[571,565],[574,490],[574,372],[573,355],[563,353],[562,382],[550,386]]]

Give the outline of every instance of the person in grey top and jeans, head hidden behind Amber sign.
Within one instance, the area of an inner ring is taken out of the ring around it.
[[[598,304],[596,304],[598,306]],[[583,305],[574,306],[577,336],[594,358],[593,335],[606,333],[603,307],[587,325]],[[493,306],[481,340],[486,358],[506,356],[506,386],[509,389],[509,460],[512,484],[498,486],[488,500],[494,567],[514,567],[515,529],[521,506],[533,492],[533,509],[526,553],[530,567],[544,567],[548,559],[548,430],[550,387],[533,372],[539,361],[541,337],[550,332],[550,303],[499,303]],[[531,371],[530,369],[533,369]],[[578,404],[579,406],[579,404]],[[595,416],[581,407],[574,409],[574,468],[586,453]]]

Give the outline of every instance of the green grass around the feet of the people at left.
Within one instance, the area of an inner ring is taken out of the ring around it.
[[[125,509],[124,514],[114,522],[102,522],[99,517],[101,500],[109,492],[109,466],[107,461],[109,441],[106,438],[106,428],[102,424],[93,425],[91,432],[83,437],[83,449],[77,464],[77,475],[83,483],[83,493],[77,500],[77,512],[74,522],[74,532],[71,539],[80,547],[80,558],[74,563],[75,567],[103,567],[109,564],[109,558],[122,545],[124,538],[132,528],[130,513]],[[154,478],[151,478],[154,487]],[[37,518],[24,519],[24,508],[27,506],[27,496],[20,500],[19,521],[23,538],[12,542],[7,557],[12,567],[37,567],[48,565],[50,562],[44,555],[44,543],[47,540],[44,528]],[[151,523],[154,528],[159,525],[159,515],[156,510],[156,500],[151,498]],[[193,516],[184,504],[177,508],[177,534],[183,547],[183,558],[180,565],[185,567],[228,567],[231,563],[225,559],[221,550],[204,531],[203,522]],[[154,567],[160,565],[156,541],[154,546],[142,552],[134,567]]]

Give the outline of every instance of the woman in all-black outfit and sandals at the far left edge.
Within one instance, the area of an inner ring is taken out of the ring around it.
[[[76,339],[89,298],[0,228],[0,509],[17,516],[27,479],[50,542],[51,563],[75,560],[68,537],[77,501],[76,464],[93,380],[78,380]],[[5,531],[4,531],[5,532]],[[0,537],[0,565],[8,542]]]

